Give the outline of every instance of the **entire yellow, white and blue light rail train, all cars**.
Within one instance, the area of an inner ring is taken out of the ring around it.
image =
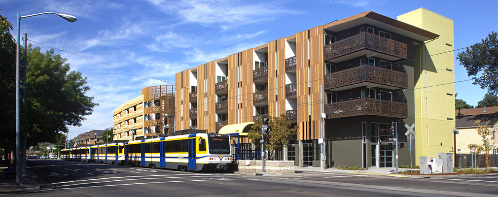
[[[184,171],[226,170],[232,163],[230,150],[227,134],[194,133],[63,149],[61,158]]]

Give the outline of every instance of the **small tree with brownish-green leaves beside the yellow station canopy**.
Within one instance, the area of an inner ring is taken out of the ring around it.
[[[294,138],[297,126],[291,126],[292,122],[285,114],[281,114],[279,117],[269,116],[268,118],[270,119],[268,123],[270,132],[263,134],[264,150],[268,151],[269,159],[275,160],[278,152],[288,145],[289,139]],[[261,121],[262,118],[256,120],[248,133],[249,139],[256,145],[259,145],[259,139],[261,139]]]

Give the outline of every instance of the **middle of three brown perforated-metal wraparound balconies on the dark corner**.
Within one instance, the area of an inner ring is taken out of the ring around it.
[[[363,65],[325,75],[323,84],[325,90],[334,91],[361,86],[368,87],[368,84],[375,84],[377,87],[389,90],[406,89],[408,75],[398,71]]]

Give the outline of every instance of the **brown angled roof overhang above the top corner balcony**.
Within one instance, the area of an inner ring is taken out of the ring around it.
[[[401,22],[394,18],[375,13],[373,11],[366,11],[351,17],[330,22],[328,24],[325,24],[323,28],[330,31],[339,32],[361,24],[371,24],[373,26],[419,41],[427,41],[439,37],[438,34],[432,33],[422,28],[418,28],[408,23]]]

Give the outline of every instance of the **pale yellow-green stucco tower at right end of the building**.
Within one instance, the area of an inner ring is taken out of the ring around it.
[[[419,165],[420,156],[438,157],[438,153],[453,153],[453,20],[424,8],[402,14],[397,19],[439,35],[414,49],[415,107],[411,114],[414,114],[416,132],[414,163]]]

